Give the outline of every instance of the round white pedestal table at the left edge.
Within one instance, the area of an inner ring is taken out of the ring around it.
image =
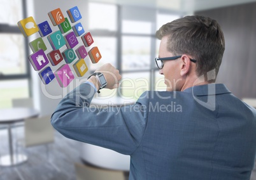
[[[11,135],[11,125],[16,122],[22,122],[29,117],[36,117],[39,115],[38,110],[33,108],[4,108],[0,109],[0,124],[8,125],[8,143],[9,155],[1,157],[0,165],[11,166],[21,164],[27,160],[23,154],[13,153],[13,139]]]

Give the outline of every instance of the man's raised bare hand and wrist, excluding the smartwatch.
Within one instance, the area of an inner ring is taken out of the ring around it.
[[[101,72],[104,75],[107,82],[107,86],[105,88],[114,89],[119,86],[118,82],[122,76],[119,74],[119,70],[113,67],[110,63],[97,68],[95,72]],[[99,84],[94,76],[90,77],[89,80],[96,85],[97,89],[99,89]]]

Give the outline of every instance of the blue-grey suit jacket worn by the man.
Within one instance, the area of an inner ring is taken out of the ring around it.
[[[60,101],[52,125],[67,138],[131,155],[129,179],[250,179],[256,111],[224,84],[146,91],[122,108],[89,106],[84,83]]]

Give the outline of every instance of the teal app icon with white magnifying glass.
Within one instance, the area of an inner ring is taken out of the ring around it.
[[[47,36],[48,41],[50,42],[52,49],[60,49],[62,46],[66,44],[66,41],[61,34],[60,30],[57,30],[51,35]]]

